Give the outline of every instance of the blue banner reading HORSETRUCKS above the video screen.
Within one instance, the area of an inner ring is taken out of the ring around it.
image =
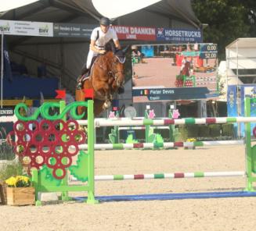
[[[174,43],[203,42],[203,33],[201,30],[157,28],[157,41],[171,41]]]

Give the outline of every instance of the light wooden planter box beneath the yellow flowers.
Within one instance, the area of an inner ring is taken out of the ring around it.
[[[34,187],[7,187],[8,205],[34,204]]]

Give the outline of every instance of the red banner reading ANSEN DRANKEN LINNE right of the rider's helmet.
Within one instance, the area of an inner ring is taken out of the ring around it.
[[[127,27],[113,26],[120,40],[156,40],[156,28],[154,27]]]

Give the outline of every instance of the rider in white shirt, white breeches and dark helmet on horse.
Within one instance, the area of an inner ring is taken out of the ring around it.
[[[121,48],[121,45],[118,41],[117,34],[114,30],[114,28],[110,27],[110,19],[103,17],[101,20],[99,20],[99,27],[96,27],[94,30],[92,30],[91,35],[91,44],[90,49],[87,56],[87,62],[84,64],[84,66],[81,69],[81,76],[88,73],[89,69],[92,66],[92,59],[93,57],[101,54],[105,54],[106,50],[104,49],[105,44],[113,39],[114,44],[117,49]],[[81,80],[82,77],[79,76],[78,78],[78,88],[81,88]]]

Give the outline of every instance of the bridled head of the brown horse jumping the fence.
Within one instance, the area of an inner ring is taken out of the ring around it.
[[[128,47],[117,50],[114,52],[111,73],[114,76],[116,87],[121,87],[124,84],[124,62],[125,62],[125,52],[127,52]]]

